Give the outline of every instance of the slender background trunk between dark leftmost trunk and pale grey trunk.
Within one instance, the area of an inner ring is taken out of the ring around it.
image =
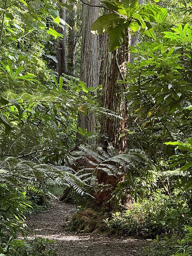
[[[75,55],[76,55],[76,22],[75,5],[71,5],[72,10],[67,13],[67,23],[71,27],[68,33],[68,74],[75,76]]]

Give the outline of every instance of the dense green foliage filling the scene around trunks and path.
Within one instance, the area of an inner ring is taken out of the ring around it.
[[[55,197],[55,187],[69,191],[75,203],[84,197],[88,207],[106,193],[105,204],[113,206],[106,229],[154,239],[147,255],[191,255],[192,6],[146,2],[104,1],[107,13],[91,24],[94,34],[108,33],[114,58],[127,31],[139,35],[128,49],[134,61],[119,81],[126,84],[119,95],[129,123],[118,138],[128,138],[122,154],[107,134],[78,127],[78,113],[96,115],[98,130],[101,115],[123,119],[102,107],[102,85],[92,87],[70,73],[58,77],[55,69],[58,40],[64,39],[58,28],[72,29],[59,11],[81,4],[0,1],[0,256],[56,255],[53,241],[26,239],[25,222],[33,204]],[[107,149],[99,143],[104,139]]]

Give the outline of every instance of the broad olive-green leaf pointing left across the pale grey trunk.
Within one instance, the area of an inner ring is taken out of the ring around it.
[[[99,17],[92,25],[91,32],[96,35],[102,35],[109,32],[116,26],[116,20],[119,19],[119,15],[109,13]]]

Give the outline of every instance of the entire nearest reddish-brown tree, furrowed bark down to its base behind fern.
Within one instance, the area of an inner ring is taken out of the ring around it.
[[[143,0],[140,0],[139,4],[142,3]],[[111,119],[108,116],[102,116],[101,134],[108,137],[108,140],[102,137],[101,143],[107,149],[109,141],[114,148],[123,153],[128,146],[128,137],[126,136],[126,130],[128,130],[128,102],[125,100],[123,90],[128,88],[128,84],[119,83],[118,80],[125,80],[128,70],[126,63],[134,61],[134,57],[128,52],[128,47],[137,44],[138,32],[133,36],[130,29],[127,29],[122,46],[113,52],[109,52],[109,35],[105,34],[104,36],[102,107],[117,112],[122,119]],[[106,172],[100,171],[97,173],[97,179],[99,184],[109,184],[114,188],[122,177],[108,176]],[[110,196],[110,191],[97,192],[97,204],[110,207],[108,204]]]

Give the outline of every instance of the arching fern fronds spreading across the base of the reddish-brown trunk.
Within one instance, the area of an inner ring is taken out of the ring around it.
[[[127,172],[132,172],[143,168],[146,163],[150,163],[147,154],[140,149],[130,149],[125,154],[117,154],[115,149],[109,145],[108,151],[101,147],[96,150],[90,146],[80,145],[79,151],[73,153],[76,160],[84,163],[84,168],[79,172],[81,175],[95,177],[97,171],[103,171],[107,175],[119,176]]]

